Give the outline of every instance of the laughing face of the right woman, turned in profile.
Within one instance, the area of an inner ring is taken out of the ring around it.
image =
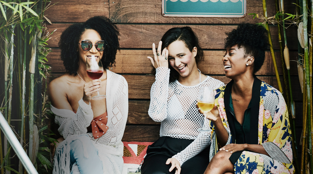
[[[239,49],[237,45],[234,45],[226,50],[226,54],[223,58],[226,77],[234,79],[236,77],[240,77],[242,74],[252,74],[254,57],[244,56],[244,48]]]

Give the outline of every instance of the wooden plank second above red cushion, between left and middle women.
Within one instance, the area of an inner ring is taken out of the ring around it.
[[[149,105],[150,101],[128,101],[128,118],[126,124],[160,125],[161,122],[155,122],[149,117]]]

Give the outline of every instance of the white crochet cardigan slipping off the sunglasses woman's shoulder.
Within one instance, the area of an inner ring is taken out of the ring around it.
[[[93,145],[98,149],[98,156],[103,163],[104,174],[121,174],[123,170],[122,137],[128,115],[128,85],[125,78],[106,70],[106,108],[108,114],[107,132],[98,139],[94,139],[92,133],[87,133],[87,127],[94,118],[91,105],[87,105],[82,99],[78,102],[77,113],[71,110],[57,109],[51,105],[51,111],[56,115],[55,123],[59,124],[59,133],[64,141],[59,144],[54,156],[53,173],[69,174],[69,143],[79,139],[79,135],[90,137]],[[84,143],[83,143],[84,146]],[[64,148],[61,152],[61,148]],[[87,157],[84,147],[84,156]],[[60,163],[57,157],[59,156]]]

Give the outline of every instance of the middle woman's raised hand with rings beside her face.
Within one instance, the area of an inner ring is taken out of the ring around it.
[[[152,43],[152,53],[154,55],[154,58],[147,57],[150,61],[152,66],[156,69],[158,67],[166,67],[168,68],[168,50],[167,48],[164,48],[161,53],[162,48],[162,41],[159,42],[159,45],[157,47],[156,52],[156,45]]]

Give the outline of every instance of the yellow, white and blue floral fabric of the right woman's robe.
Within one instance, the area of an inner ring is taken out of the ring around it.
[[[218,104],[221,119],[227,122],[224,104],[225,87],[215,90],[215,102]],[[281,93],[265,82],[261,83],[260,91],[258,144],[263,145],[269,156],[243,151],[234,164],[235,174],[294,173],[286,103]]]

